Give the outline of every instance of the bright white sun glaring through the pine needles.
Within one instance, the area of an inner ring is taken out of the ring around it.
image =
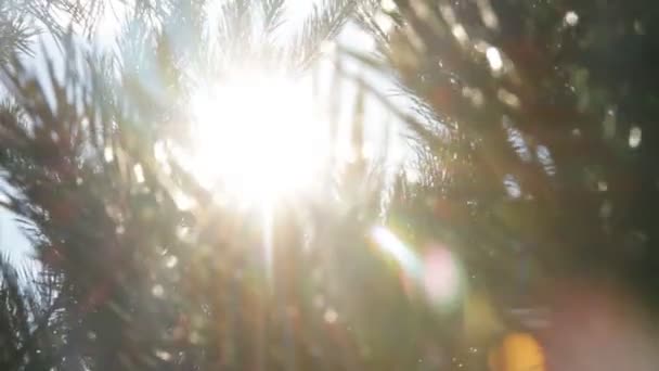
[[[309,191],[327,158],[327,126],[307,80],[258,72],[199,89],[191,100],[191,170],[242,203]]]

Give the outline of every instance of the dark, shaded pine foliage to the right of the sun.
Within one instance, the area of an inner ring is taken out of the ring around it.
[[[638,312],[656,312],[657,7],[391,3],[392,33],[377,17],[362,24],[380,36],[380,56],[419,97],[419,112],[435,115],[430,127],[410,126],[422,143],[422,181],[391,216],[415,221],[408,233],[452,241],[471,290],[489,293],[508,331],[538,330],[511,309],[551,305],[559,287],[585,282],[592,293],[605,286],[625,297],[633,321],[645,323],[636,335],[655,338]],[[421,232],[421,220],[431,220],[430,231]],[[559,314],[568,304],[556,305]],[[592,345],[568,341],[558,314],[537,333],[551,367],[570,369],[592,357]],[[603,347],[625,346],[612,336]],[[645,350],[630,357],[579,369],[644,369],[655,359]]]

